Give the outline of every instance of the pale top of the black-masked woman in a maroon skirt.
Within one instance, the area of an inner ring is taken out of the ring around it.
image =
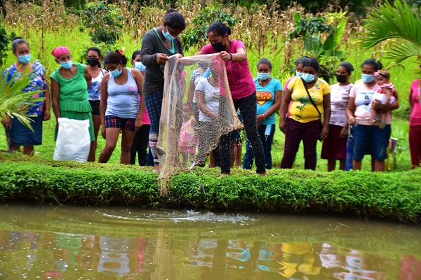
[[[330,125],[339,125],[344,127],[347,124],[348,118],[345,114],[348,106],[349,92],[353,84],[349,85],[330,85],[330,109],[332,115],[330,116]]]

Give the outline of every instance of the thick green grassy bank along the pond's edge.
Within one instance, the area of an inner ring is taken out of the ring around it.
[[[0,153],[0,200],[59,204],[131,204],[210,211],[326,212],[421,222],[421,169],[398,172],[271,170],[259,177],[198,168],[164,183],[150,167],[38,160]],[[203,190],[201,190],[203,187]]]

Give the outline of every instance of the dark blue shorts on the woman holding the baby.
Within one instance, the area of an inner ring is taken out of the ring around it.
[[[390,125],[382,130],[378,125],[356,125],[352,132],[355,141],[352,153],[354,160],[362,160],[367,154],[375,160],[387,159],[387,146],[392,132]]]

